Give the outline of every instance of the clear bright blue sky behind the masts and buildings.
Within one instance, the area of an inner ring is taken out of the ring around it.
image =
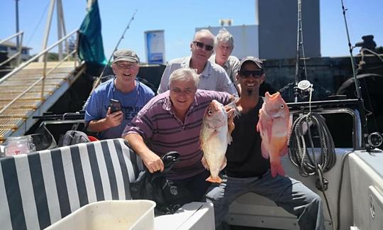
[[[16,33],[15,0],[0,0],[0,40]],[[294,0],[295,1],[295,0]],[[20,0],[20,30],[23,45],[38,53],[43,43],[50,0]],[[373,34],[383,46],[383,0],[344,0],[351,43],[362,35]],[[86,14],[85,0],[62,0],[67,33],[79,28]],[[368,5],[368,6],[367,6]],[[195,28],[219,26],[220,18],[233,18],[233,26],[255,24],[255,0],[176,1],[176,0],[99,0],[106,57],[111,55],[135,9],[137,13],[119,48],[131,48],[145,59],[144,31],[165,30],[166,60],[189,55]],[[322,56],[348,55],[348,41],[340,0],[321,0]],[[57,40],[57,22],[52,21],[49,44]],[[355,49],[357,53],[359,48]]]

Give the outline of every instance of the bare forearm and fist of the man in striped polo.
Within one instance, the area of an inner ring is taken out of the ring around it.
[[[124,138],[128,141],[135,153],[143,159],[143,163],[150,172],[156,172],[158,170],[162,172],[164,170],[164,163],[161,158],[146,146],[142,136],[137,133],[128,133]]]

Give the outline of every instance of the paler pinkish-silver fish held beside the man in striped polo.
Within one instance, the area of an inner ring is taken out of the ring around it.
[[[230,122],[229,126],[230,128],[223,104],[213,100],[205,110],[199,135],[201,150],[204,152],[202,163],[211,174],[206,181],[222,182],[218,173],[226,166],[226,148],[232,141],[229,131],[233,131],[234,123]]]

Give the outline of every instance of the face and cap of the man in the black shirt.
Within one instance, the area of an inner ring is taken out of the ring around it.
[[[240,87],[242,89],[243,94],[248,94],[249,96],[252,94],[258,95],[260,92],[260,84],[265,81],[265,74],[260,75],[241,75],[241,71],[249,71],[249,72],[260,72],[260,67],[258,67],[254,62],[247,61],[243,63],[240,72],[237,74],[237,79],[240,82]]]

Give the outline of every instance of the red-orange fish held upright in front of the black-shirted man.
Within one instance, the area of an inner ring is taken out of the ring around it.
[[[289,107],[279,92],[265,94],[265,101],[260,109],[257,131],[262,138],[262,156],[270,158],[272,176],[284,175],[281,156],[287,154],[287,141],[290,133]]]

